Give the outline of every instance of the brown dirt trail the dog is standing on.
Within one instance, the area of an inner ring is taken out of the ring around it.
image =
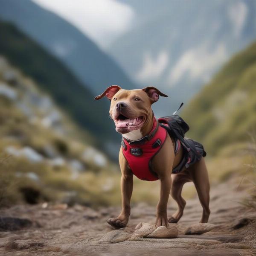
[[[0,232],[0,255],[256,255],[256,212],[244,209],[238,203],[246,194],[244,191],[236,192],[236,187],[231,181],[212,187],[209,223],[219,226],[203,235],[184,235],[186,227],[201,218],[198,199],[187,201],[184,215],[177,224],[179,236],[175,239],[102,241],[102,236],[112,230],[106,219],[119,213],[117,207],[102,208],[97,212],[81,206],[58,209],[61,205],[46,209],[41,205],[2,209],[1,217],[29,218],[33,224],[19,231]],[[174,211],[175,208],[169,207],[169,215]],[[154,213],[155,207],[145,204],[133,207],[129,230],[140,221],[153,223]]]

